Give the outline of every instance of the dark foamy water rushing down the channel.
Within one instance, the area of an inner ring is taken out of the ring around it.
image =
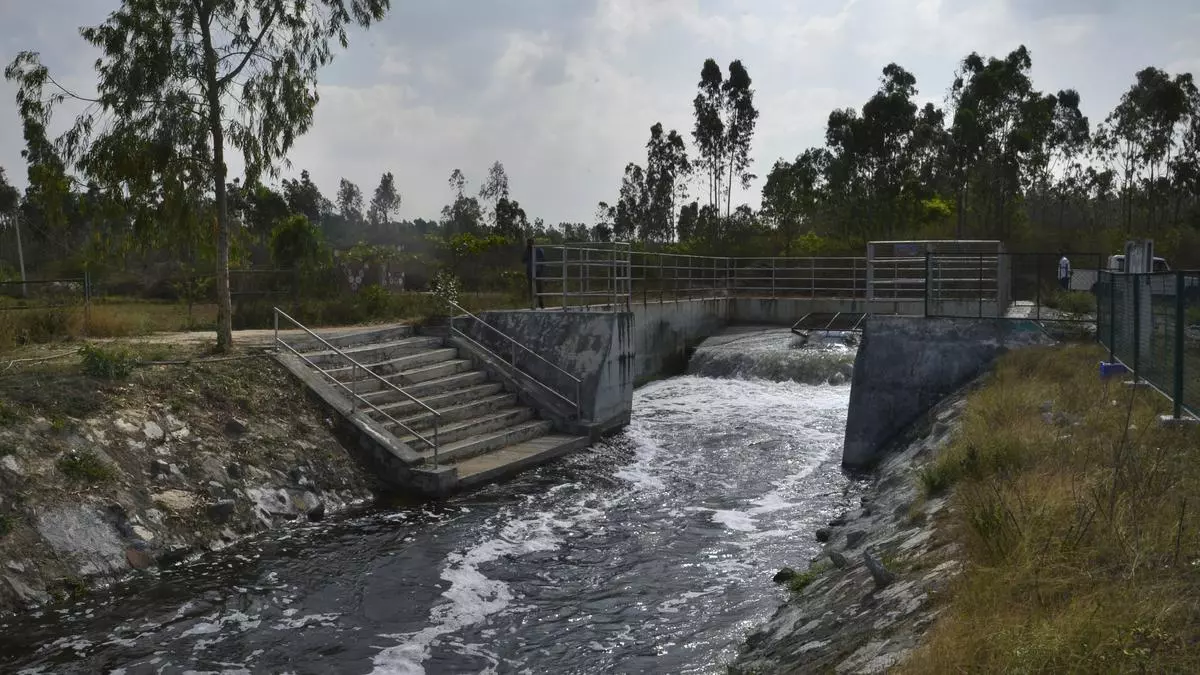
[[[469,496],[0,621],[0,671],[720,671],[847,498],[850,388],[804,382],[851,354],[792,344],[713,339],[692,375],[636,392],[617,437]]]

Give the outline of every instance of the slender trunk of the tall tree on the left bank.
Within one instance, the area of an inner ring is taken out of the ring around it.
[[[221,91],[217,80],[217,56],[212,49],[211,20],[210,13],[203,12],[200,14],[205,96],[209,106],[209,131],[212,133],[212,191],[217,205],[216,352],[228,352],[233,348],[233,300],[229,297],[229,201],[226,195],[224,129],[221,125]]]

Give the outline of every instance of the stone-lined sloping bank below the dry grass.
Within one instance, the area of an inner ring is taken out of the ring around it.
[[[917,646],[960,567],[937,530],[947,498],[925,500],[919,472],[950,441],[965,404],[959,393],[926,413],[884,455],[860,507],[815,533],[824,549],[808,569],[776,574],[793,595],[730,673],[883,673]]]

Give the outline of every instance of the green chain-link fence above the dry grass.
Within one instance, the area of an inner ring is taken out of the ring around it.
[[[1200,416],[1200,271],[1100,271],[1097,334],[1110,360]]]

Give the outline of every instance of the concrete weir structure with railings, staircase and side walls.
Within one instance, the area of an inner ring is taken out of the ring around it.
[[[833,359],[810,380],[852,380],[842,460],[866,467],[998,353],[1044,340],[1036,322],[1009,316],[1010,269],[998,241],[877,241],[865,257],[809,258],[553,246],[530,279],[536,309],[473,315],[455,305],[424,356],[358,364],[338,353],[341,380],[295,350],[281,358],[342,411],[352,446],[385,482],[443,495],[620,430],[636,387],[683,372],[696,346],[726,327],[775,325],[808,340],[833,324],[815,330],[805,317],[853,316],[856,366]],[[401,362],[440,365],[409,372]],[[347,388],[355,382],[377,393]],[[458,400],[458,389],[478,400]],[[436,405],[419,390],[438,394]]]

